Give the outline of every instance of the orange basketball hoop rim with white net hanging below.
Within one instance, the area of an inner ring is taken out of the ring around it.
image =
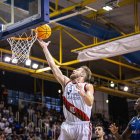
[[[22,33],[18,37],[10,37],[7,39],[11,46],[12,61],[18,61],[18,63],[24,63],[29,59],[31,47],[37,39],[37,33],[31,30],[31,34]]]

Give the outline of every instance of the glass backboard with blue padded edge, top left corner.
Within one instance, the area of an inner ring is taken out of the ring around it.
[[[49,22],[49,0],[0,0],[0,39]]]

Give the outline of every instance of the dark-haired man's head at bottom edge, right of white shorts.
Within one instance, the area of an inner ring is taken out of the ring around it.
[[[97,124],[95,126],[95,135],[97,136],[98,139],[103,140],[105,132],[102,124]]]

